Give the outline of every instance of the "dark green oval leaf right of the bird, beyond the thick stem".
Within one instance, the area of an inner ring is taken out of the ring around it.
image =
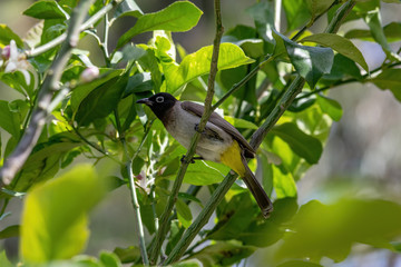
[[[271,132],[287,142],[291,149],[309,164],[317,164],[323,151],[322,144],[316,138],[301,131],[295,123],[286,122],[276,126]]]

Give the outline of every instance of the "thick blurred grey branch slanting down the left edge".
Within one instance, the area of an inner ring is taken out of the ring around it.
[[[67,41],[60,48],[60,51],[50,67],[50,70],[43,80],[38,95],[38,101],[32,112],[29,126],[23,134],[21,140],[17,145],[14,151],[7,158],[0,170],[0,177],[4,185],[9,185],[16,174],[22,168],[30,152],[37,144],[39,136],[46,123],[46,118],[52,111],[49,109],[55,91],[59,89],[59,80],[61,78],[65,66],[67,65],[72,48],[78,44],[80,26],[90,7],[91,0],[82,0],[77,8],[74,9],[70,26],[67,32]],[[0,181],[0,187],[2,187]]]

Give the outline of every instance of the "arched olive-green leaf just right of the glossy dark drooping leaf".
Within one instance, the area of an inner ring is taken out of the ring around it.
[[[369,67],[361,51],[346,38],[334,33],[316,33],[303,38],[300,42],[315,42],[324,47],[330,47],[339,53],[359,63],[366,72]]]

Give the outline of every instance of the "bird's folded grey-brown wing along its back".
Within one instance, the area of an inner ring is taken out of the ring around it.
[[[202,117],[205,110],[205,107],[195,102],[184,101],[182,102],[182,108],[193,115],[196,115],[198,117]],[[255,157],[255,150],[251,147],[251,145],[246,141],[246,139],[241,135],[241,132],[232,126],[228,121],[223,119],[218,113],[213,112],[211,115],[211,118],[208,119],[208,122],[212,122],[213,125],[222,128],[227,134],[229,134],[235,140],[238,141],[241,147],[245,151],[245,157],[247,158],[254,158]]]

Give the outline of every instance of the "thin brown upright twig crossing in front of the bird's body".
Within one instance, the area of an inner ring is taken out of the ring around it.
[[[207,93],[206,93],[206,99],[205,99],[205,110],[204,110],[204,113],[202,116],[202,119],[200,119],[200,122],[198,126],[198,131],[195,132],[194,137],[192,138],[190,147],[185,156],[185,160],[183,160],[183,164],[178,170],[177,177],[173,185],[172,194],[168,198],[166,208],[160,217],[160,224],[159,224],[160,227],[156,235],[156,241],[150,250],[150,264],[153,264],[153,265],[155,265],[157,263],[157,258],[160,254],[163,240],[166,237],[168,226],[169,226],[168,219],[170,217],[174,204],[176,202],[177,195],[178,195],[179,188],[183,184],[183,179],[184,179],[186,169],[188,167],[188,164],[190,162],[190,160],[195,154],[197,142],[200,138],[200,132],[205,129],[206,122],[207,122],[211,113],[213,112],[212,100],[213,100],[213,96],[214,96],[214,83],[215,83],[216,73],[217,73],[219,44],[221,44],[223,31],[224,31],[224,28],[222,24],[221,2],[219,2],[219,0],[215,0],[214,3],[215,3],[215,16],[216,16],[216,36],[215,36],[215,39],[213,42],[213,55],[212,55],[212,62],[211,62],[211,72],[209,72],[208,83],[207,83]]]

